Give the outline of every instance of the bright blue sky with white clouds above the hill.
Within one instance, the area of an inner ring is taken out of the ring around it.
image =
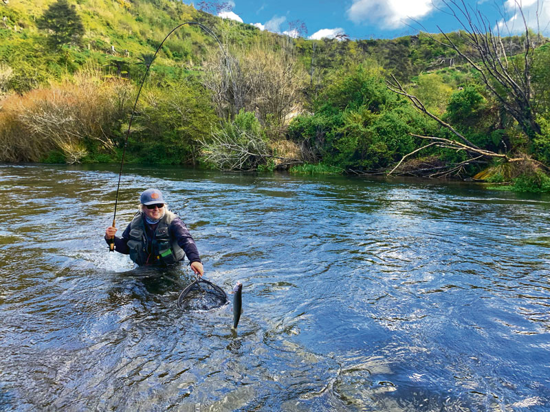
[[[195,3],[198,7],[199,1]],[[228,8],[219,16],[270,32],[296,36],[296,29],[293,30],[296,23],[305,23],[307,34],[302,30],[300,35],[307,38],[334,38],[338,34],[351,39],[395,38],[419,31],[439,32],[438,25],[443,32],[461,28],[454,16],[445,12],[443,0],[211,0],[209,3],[227,3]],[[473,10],[480,10],[492,28],[500,27],[503,35],[522,31],[520,4],[528,25],[549,34],[550,0],[547,3],[465,0],[465,3]]]

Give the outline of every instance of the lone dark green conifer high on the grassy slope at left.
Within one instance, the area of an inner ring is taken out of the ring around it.
[[[52,31],[48,36],[48,43],[52,47],[61,48],[66,44],[78,45],[80,36],[84,34],[82,20],[76,14],[75,6],[69,4],[67,0],[57,0],[50,5],[36,24],[39,29]]]

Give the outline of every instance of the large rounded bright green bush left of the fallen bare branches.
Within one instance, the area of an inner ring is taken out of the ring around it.
[[[372,64],[336,73],[314,106],[313,116],[294,119],[289,137],[340,168],[385,168],[415,148],[411,132],[429,126]]]

